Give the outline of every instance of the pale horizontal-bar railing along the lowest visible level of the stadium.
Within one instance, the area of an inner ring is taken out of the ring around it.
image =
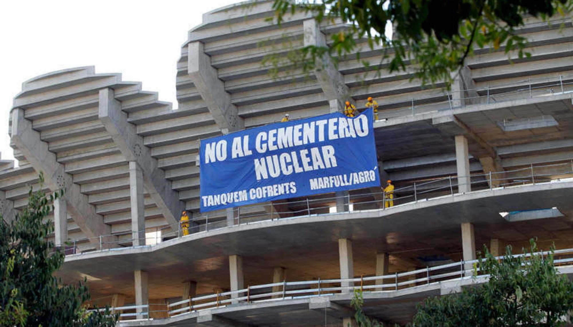
[[[536,254],[546,255],[549,252]],[[554,264],[565,265],[573,263],[573,249],[556,250],[554,252]],[[514,254],[513,257],[524,256]],[[531,256],[527,254],[525,256]],[[503,256],[497,257],[503,260]],[[359,278],[335,278],[309,281],[275,282],[271,284],[253,285],[240,290],[221,292],[195,296],[181,301],[167,304],[168,315],[178,316],[205,309],[219,308],[227,305],[262,301],[281,301],[294,298],[307,298],[319,296],[331,296],[333,294],[352,293],[354,290],[362,292],[398,292],[409,288],[421,288],[421,286],[435,284],[437,282],[464,280],[480,275],[480,269],[474,270],[478,260],[452,262],[439,266],[427,266],[426,268],[410,272],[387,274],[383,276],[360,276]]]

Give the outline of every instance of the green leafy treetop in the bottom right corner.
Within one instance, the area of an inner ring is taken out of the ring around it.
[[[498,261],[486,248],[477,267],[489,275],[484,284],[461,293],[427,298],[418,306],[413,325],[424,326],[560,326],[573,308],[573,284],[554,266],[554,252],[537,251],[531,241],[525,256],[511,247]]]

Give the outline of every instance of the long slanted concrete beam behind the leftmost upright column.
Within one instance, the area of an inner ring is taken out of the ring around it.
[[[103,217],[96,214],[95,207],[89,204],[88,196],[81,193],[80,185],[72,182],[72,176],[65,172],[65,166],[48,150],[48,143],[42,141],[40,133],[32,129],[32,122],[24,118],[24,110],[14,108],[11,114],[11,140],[37,172],[44,172],[44,183],[50,190],[66,190],[64,198],[68,203],[68,211],[85,236],[95,238],[111,234],[111,227],[104,224]],[[93,240],[92,243],[99,247],[99,241]]]

